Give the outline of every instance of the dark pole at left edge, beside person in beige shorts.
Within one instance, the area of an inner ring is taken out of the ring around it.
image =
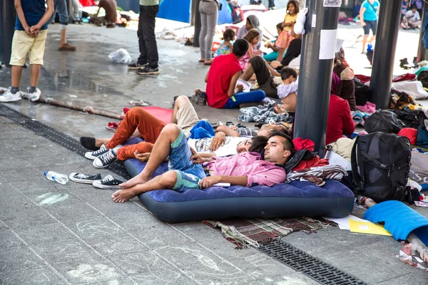
[[[2,1],[0,15],[1,53],[7,67],[11,61],[12,38],[14,38],[16,11],[14,1]]]

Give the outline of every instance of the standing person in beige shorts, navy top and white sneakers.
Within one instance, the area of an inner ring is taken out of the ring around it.
[[[9,0],[8,0],[9,1]],[[0,102],[14,102],[22,99],[19,85],[26,55],[29,54],[31,77],[28,90],[29,100],[39,100],[41,91],[37,88],[40,68],[43,65],[47,22],[54,14],[54,0],[14,0],[16,25],[12,40],[10,65],[12,66],[11,86]],[[45,7],[47,4],[47,9]]]

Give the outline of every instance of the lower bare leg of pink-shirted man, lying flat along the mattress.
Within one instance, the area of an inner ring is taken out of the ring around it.
[[[174,170],[170,170],[163,173],[163,175],[159,175],[154,177],[152,180],[148,180],[146,183],[138,184],[131,188],[118,190],[114,192],[111,197],[113,198],[114,202],[123,203],[144,192],[159,189],[173,189],[176,182],[177,173]]]

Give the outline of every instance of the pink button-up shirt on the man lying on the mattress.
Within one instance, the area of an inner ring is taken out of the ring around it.
[[[257,152],[243,152],[230,157],[217,157],[208,165],[214,175],[246,176],[247,187],[253,183],[272,186],[285,182],[287,174],[284,168],[272,162],[260,160]]]

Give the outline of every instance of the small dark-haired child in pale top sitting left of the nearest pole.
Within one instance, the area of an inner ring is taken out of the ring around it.
[[[284,110],[275,106],[275,113],[280,114],[285,111],[295,112],[297,103],[297,84],[295,82],[297,79],[296,70],[290,67],[282,68],[281,79],[282,84],[277,87],[277,94],[282,100],[282,104],[284,104]]]

